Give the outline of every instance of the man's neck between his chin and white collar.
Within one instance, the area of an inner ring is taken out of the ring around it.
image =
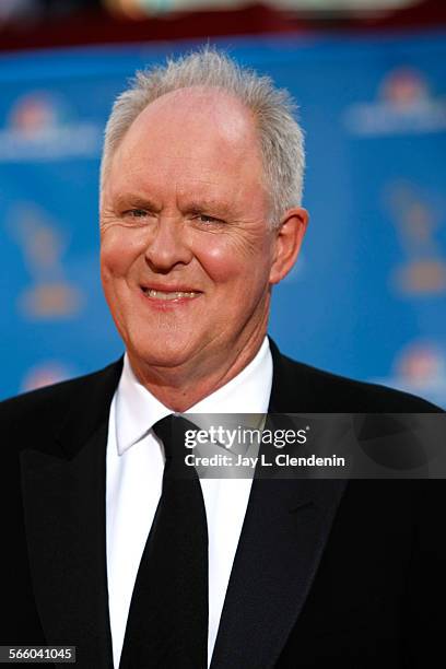
[[[254,360],[263,342],[266,326],[234,344],[231,355],[225,351],[219,365],[214,356],[207,356],[201,364],[193,360],[180,368],[145,367],[130,352],[128,355],[138,380],[165,407],[183,413],[226,385]]]

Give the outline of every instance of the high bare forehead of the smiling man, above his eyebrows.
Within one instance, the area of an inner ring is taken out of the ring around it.
[[[253,114],[218,89],[163,95],[133,121],[111,161],[114,187],[257,187],[262,165]]]

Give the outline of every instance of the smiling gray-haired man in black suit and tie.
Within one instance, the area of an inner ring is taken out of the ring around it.
[[[219,52],[116,102],[101,262],[126,355],[1,408],[2,644],[75,645],[85,669],[431,666],[439,481],[193,479],[195,512],[160,530],[172,413],[435,411],[266,338],[307,226],[303,165],[287,95]]]

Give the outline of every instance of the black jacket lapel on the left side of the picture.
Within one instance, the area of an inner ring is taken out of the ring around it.
[[[107,606],[105,454],[120,364],[73,394],[50,448],[22,453],[30,567],[48,644],[75,645],[80,669],[113,667]],[[55,449],[55,442],[58,450]]]

